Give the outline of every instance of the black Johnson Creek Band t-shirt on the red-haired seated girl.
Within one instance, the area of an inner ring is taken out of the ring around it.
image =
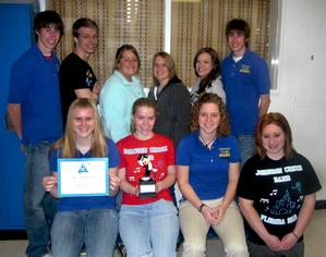
[[[240,174],[237,194],[254,201],[254,208],[270,234],[282,238],[293,231],[304,196],[321,188],[312,164],[302,155],[271,160],[258,155],[249,159]],[[249,240],[265,244],[249,228]]]

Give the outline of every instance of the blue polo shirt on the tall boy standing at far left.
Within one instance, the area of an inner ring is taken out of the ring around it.
[[[55,142],[62,134],[59,64],[56,53],[48,60],[34,46],[11,68],[8,101],[21,105],[24,145]]]

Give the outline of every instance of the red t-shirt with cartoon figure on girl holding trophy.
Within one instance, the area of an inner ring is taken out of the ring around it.
[[[133,135],[117,143],[120,152],[120,168],[125,168],[125,180],[138,187],[140,179],[146,170],[156,182],[168,174],[168,167],[174,166],[174,147],[171,139],[154,134],[150,139],[141,140]],[[138,196],[123,192],[122,204],[144,205],[159,199],[172,200],[169,189],[164,189],[155,198],[140,199]]]

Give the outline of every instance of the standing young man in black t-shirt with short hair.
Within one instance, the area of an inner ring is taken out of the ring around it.
[[[59,72],[63,128],[68,109],[74,99],[96,100],[99,94],[97,78],[87,62],[97,47],[97,24],[88,17],[81,17],[72,25],[72,35],[73,52],[62,61]]]

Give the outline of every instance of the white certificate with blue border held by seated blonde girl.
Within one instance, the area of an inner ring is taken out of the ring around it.
[[[108,158],[58,159],[59,197],[109,195]]]

